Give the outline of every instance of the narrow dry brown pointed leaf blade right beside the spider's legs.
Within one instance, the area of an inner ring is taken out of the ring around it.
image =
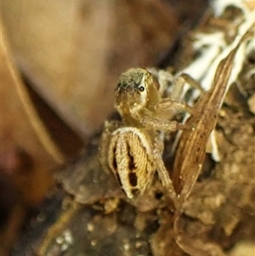
[[[190,191],[201,172],[202,163],[206,156],[207,140],[215,127],[218,111],[224,100],[229,76],[233,67],[235,54],[240,44],[249,37],[248,31],[229,55],[220,61],[215,73],[212,88],[201,96],[195,105],[199,116],[191,116],[185,123],[192,126],[192,130],[184,130],[176,152],[173,166],[174,187],[179,194],[178,202],[182,206],[190,195]]]

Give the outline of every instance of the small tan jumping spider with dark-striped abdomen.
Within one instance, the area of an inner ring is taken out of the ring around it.
[[[155,70],[132,68],[122,73],[115,93],[115,108],[122,122],[105,122],[100,158],[105,168],[116,175],[128,198],[142,195],[157,170],[177,207],[178,196],[161,159],[161,133],[185,128],[183,123],[171,121],[174,111],[195,113],[180,101],[184,77],[173,82],[170,73],[161,72],[158,76]],[[169,80],[174,88],[171,96],[165,98]]]

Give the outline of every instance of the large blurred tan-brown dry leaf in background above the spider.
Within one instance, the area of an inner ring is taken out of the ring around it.
[[[179,28],[170,7],[158,0],[2,5],[20,69],[82,139],[112,111],[119,74],[154,64]]]

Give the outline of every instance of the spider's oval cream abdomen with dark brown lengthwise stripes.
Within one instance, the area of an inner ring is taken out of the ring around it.
[[[118,128],[111,136],[108,163],[128,198],[144,193],[155,172],[150,138],[139,128]]]

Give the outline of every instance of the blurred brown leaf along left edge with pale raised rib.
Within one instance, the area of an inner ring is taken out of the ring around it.
[[[31,103],[2,23],[0,31],[0,254],[7,255],[26,209],[42,201],[53,184],[51,169],[64,159]]]

